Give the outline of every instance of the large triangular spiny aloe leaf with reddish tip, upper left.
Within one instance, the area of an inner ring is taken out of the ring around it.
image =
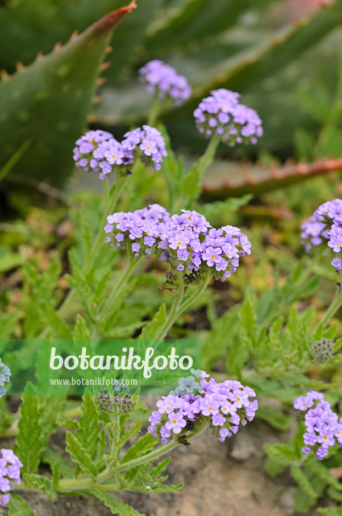
[[[135,0],[2,80],[0,168],[30,137],[32,144],[13,171],[49,176],[55,183],[70,172],[73,144],[83,132],[113,28],[134,7]]]

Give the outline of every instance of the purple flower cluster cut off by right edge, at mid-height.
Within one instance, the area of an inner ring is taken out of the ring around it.
[[[334,199],[324,202],[319,206],[312,217],[301,225],[302,244],[308,252],[312,246],[318,246],[323,238],[328,240],[328,246],[336,253],[331,265],[337,272],[342,270],[342,262],[339,256],[342,246],[342,199]]]

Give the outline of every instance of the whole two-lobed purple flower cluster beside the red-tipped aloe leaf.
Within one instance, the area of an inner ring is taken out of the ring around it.
[[[85,172],[99,174],[100,179],[112,172],[113,167],[134,163],[139,157],[149,168],[160,170],[163,156],[166,156],[165,141],[156,128],[144,125],[125,134],[125,139],[118,142],[107,131],[88,131],[76,141],[73,159],[77,167]]]

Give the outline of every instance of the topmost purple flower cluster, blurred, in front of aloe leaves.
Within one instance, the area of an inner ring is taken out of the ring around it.
[[[139,80],[147,83],[147,91],[150,95],[157,95],[161,100],[169,96],[174,100],[175,106],[182,105],[192,93],[186,78],[159,59],[148,62],[139,70]]]

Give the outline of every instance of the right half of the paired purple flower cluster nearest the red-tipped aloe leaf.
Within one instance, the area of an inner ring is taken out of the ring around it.
[[[167,156],[165,140],[162,134],[149,125],[128,131],[122,140],[122,147],[133,163],[134,158],[140,158],[150,170],[162,168],[163,157]]]

